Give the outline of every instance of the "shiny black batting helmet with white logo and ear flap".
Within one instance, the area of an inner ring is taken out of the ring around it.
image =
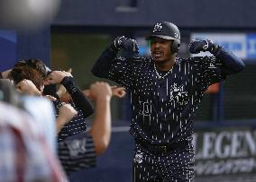
[[[154,24],[151,35],[146,39],[158,37],[161,39],[173,39],[172,52],[177,53],[180,46],[180,33],[178,27],[171,22],[157,22]]]

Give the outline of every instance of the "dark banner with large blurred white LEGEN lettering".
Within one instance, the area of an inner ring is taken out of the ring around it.
[[[194,134],[196,176],[256,173],[256,130],[225,128]]]

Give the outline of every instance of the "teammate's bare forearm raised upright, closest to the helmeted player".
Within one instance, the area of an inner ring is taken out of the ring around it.
[[[110,97],[96,99],[96,117],[90,134],[96,147],[96,155],[105,152],[111,137]]]

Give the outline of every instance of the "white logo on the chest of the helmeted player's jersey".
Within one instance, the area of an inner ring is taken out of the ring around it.
[[[177,83],[171,85],[169,100],[175,101],[179,105],[187,104],[187,91],[184,91],[184,85],[177,86]]]

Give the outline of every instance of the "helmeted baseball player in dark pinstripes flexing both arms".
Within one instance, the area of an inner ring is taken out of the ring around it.
[[[92,73],[123,85],[131,94],[135,140],[133,181],[193,181],[193,123],[204,91],[227,75],[242,71],[242,60],[210,40],[193,40],[189,52],[213,56],[177,57],[178,27],[158,22],[152,30],[151,57],[138,53],[133,39],[119,37],[96,61]]]

